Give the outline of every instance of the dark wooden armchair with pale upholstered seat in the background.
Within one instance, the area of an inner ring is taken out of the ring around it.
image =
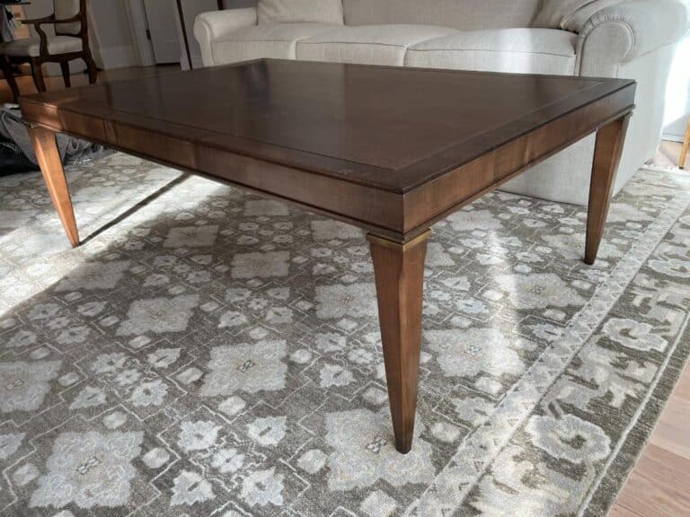
[[[97,69],[89,48],[86,0],[53,0],[53,13],[37,20],[24,20],[33,25],[39,39],[17,39],[0,43],[0,65],[16,101],[19,87],[14,80],[13,65],[29,63],[33,82],[39,92],[46,91],[41,66],[59,63],[65,86],[70,87],[69,62],[84,59],[89,71],[89,83],[96,82]],[[55,36],[48,36],[41,25],[54,25]]]

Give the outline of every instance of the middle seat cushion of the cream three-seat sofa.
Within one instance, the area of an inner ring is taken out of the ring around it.
[[[456,32],[433,25],[342,27],[297,44],[297,59],[403,66],[408,47]]]

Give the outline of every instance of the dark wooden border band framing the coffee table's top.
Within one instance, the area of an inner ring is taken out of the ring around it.
[[[292,63],[295,60],[292,59],[274,59],[274,58],[261,58],[261,59],[250,59],[238,63],[232,63],[223,66],[214,66],[205,69],[191,70],[191,71],[180,71],[171,74],[165,74],[164,77],[174,77],[177,74],[189,74],[189,73],[199,73],[202,71],[213,71],[221,70],[227,67],[236,66],[246,66],[257,64],[261,62],[280,62],[280,63]],[[434,74],[467,74],[467,75],[481,75],[481,76],[499,76],[499,77],[543,77],[548,79],[558,79],[558,80],[568,80],[568,81],[590,81],[595,84],[589,86],[586,89],[580,90],[570,97],[563,98],[551,105],[544,106],[539,110],[535,110],[514,120],[509,120],[505,124],[499,127],[491,128],[489,131],[485,131],[482,134],[477,134],[465,138],[463,141],[458,142],[449,148],[429,154],[428,156],[420,157],[416,162],[412,162],[410,165],[400,168],[382,168],[376,165],[367,164],[364,162],[352,162],[346,159],[327,156],[319,153],[312,153],[309,151],[304,151],[301,149],[292,148],[289,146],[279,145],[279,144],[267,144],[262,143],[258,140],[253,140],[252,138],[243,136],[230,136],[217,131],[211,131],[199,127],[190,127],[186,125],[181,125],[176,122],[165,121],[162,118],[151,118],[140,116],[137,113],[132,113],[129,111],[119,111],[108,109],[100,105],[94,104],[92,106],[80,107],[79,109],[73,109],[69,106],[58,106],[56,101],[53,101],[53,97],[57,97],[58,101],[64,100],[69,96],[68,90],[60,92],[44,92],[29,95],[20,98],[20,106],[22,107],[22,113],[26,113],[25,119],[40,127],[46,127],[53,131],[64,132],[71,134],[73,136],[79,136],[85,139],[90,139],[90,135],[85,135],[83,133],[76,132],[74,129],[67,128],[63,123],[57,123],[57,117],[52,117],[52,120],[47,120],[46,117],[40,116],[37,113],[39,110],[45,110],[49,112],[50,110],[55,110],[57,115],[58,112],[71,112],[75,115],[80,116],[92,116],[97,118],[107,118],[109,121],[126,126],[136,127],[139,129],[149,129],[151,126],[158,126],[158,133],[167,133],[165,126],[168,127],[178,127],[178,132],[170,131],[170,136],[179,137],[179,132],[184,131],[188,136],[187,140],[190,142],[213,146],[219,149],[223,149],[236,154],[243,154],[255,159],[259,159],[264,162],[274,162],[280,165],[285,165],[288,167],[310,171],[317,174],[323,174],[325,176],[330,176],[337,180],[345,180],[352,183],[360,183],[369,188],[378,188],[386,190],[389,192],[405,194],[411,190],[420,187],[423,183],[434,180],[439,176],[446,174],[448,171],[457,169],[458,167],[464,166],[470,162],[473,162],[477,157],[485,153],[490,153],[496,148],[502,145],[509,144],[509,142],[524,136],[530,131],[534,131],[539,127],[548,124],[556,118],[561,118],[567,115],[570,111],[566,110],[560,115],[549,114],[550,110],[554,110],[555,107],[562,106],[563,103],[570,104],[572,110],[581,109],[586,103],[596,102],[602,97],[606,97],[613,92],[630,87],[634,84],[634,81],[625,79],[614,79],[614,78],[596,78],[596,77],[579,77],[575,75],[554,75],[554,74],[509,74],[501,72],[479,72],[472,70],[448,70],[448,69],[438,69],[438,68],[428,68],[428,67],[411,67],[411,66],[377,66],[377,65],[359,65],[359,64],[338,64],[331,62],[300,62],[309,65],[323,65],[323,66],[354,66],[354,67],[366,67],[372,69],[392,69],[400,71],[416,71],[416,72],[429,72]],[[138,79],[128,79],[116,83],[137,83],[144,81],[147,78]],[[96,88],[96,87],[107,87],[107,85],[97,84],[93,86],[80,86],[72,91],[78,91],[83,88]],[[586,102],[581,102],[581,100],[586,100]],[[30,104],[32,105],[30,107]],[[47,115],[47,113],[46,113]],[[529,119],[528,119],[529,118]],[[538,122],[535,123],[534,118],[538,118]],[[137,119],[141,121],[137,124]],[[146,125],[147,123],[147,125]],[[506,134],[509,131],[509,127],[514,127],[513,133]],[[504,134],[501,136],[501,134]],[[218,142],[219,137],[224,139],[232,139],[234,142],[238,143],[236,145],[224,145]],[[491,146],[482,146],[482,141],[491,140]],[[111,144],[112,145],[112,144]],[[264,149],[257,150],[257,146],[262,146]],[[271,149],[270,155],[267,155],[266,147]],[[473,152],[473,149],[480,149]],[[374,179],[362,176],[373,176]]]

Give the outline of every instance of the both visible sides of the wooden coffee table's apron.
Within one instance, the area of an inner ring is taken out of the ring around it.
[[[22,113],[31,125],[248,188],[392,241],[407,242],[536,163],[630,114],[633,95],[634,88],[607,95],[404,193],[234,153],[194,139],[193,131],[190,138],[182,139],[33,102],[23,102]]]

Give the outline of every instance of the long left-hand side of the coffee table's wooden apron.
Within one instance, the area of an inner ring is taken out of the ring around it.
[[[164,166],[220,180],[394,241],[403,237],[403,195],[164,135],[142,127],[25,103],[34,126],[84,138]]]

